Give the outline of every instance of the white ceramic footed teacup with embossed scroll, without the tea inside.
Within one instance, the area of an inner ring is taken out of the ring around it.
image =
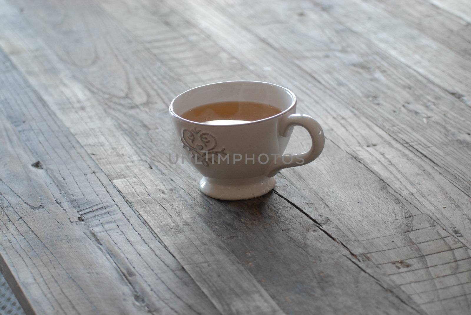
[[[180,115],[196,106],[224,101],[249,101],[275,106],[281,113],[242,124],[213,125]],[[169,107],[179,142],[195,168],[203,174],[200,189],[210,197],[243,200],[268,193],[281,169],[314,161],[324,148],[324,133],[312,117],[296,113],[296,97],[289,89],[258,81],[227,81],[189,89]],[[285,154],[293,126],[306,128],[309,151]]]

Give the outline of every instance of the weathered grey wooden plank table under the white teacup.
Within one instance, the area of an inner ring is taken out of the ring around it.
[[[469,314],[470,1],[0,0],[0,48],[27,314]],[[292,89],[326,135],[243,202],[168,158],[171,99],[226,80]]]

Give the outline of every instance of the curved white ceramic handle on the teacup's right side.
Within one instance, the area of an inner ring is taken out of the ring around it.
[[[317,159],[324,149],[324,131],[322,131],[319,123],[309,115],[305,114],[292,114],[282,118],[278,125],[280,135],[288,137],[288,132],[293,126],[301,126],[308,130],[312,139],[312,145],[309,151],[298,154],[285,154],[283,156],[276,156],[274,162],[268,168],[268,177],[273,177],[282,169],[288,167],[301,166],[308,164]],[[285,163],[284,161],[288,161]]]

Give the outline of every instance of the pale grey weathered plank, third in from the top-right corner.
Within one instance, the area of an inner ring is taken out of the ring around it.
[[[356,9],[349,10],[351,6]],[[471,81],[469,58],[362,1],[321,1],[318,8],[455,97],[468,102],[471,94],[467,83]]]

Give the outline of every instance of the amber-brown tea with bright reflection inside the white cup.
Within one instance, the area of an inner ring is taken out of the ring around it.
[[[213,125],[234,125],[275,116],[282,111],[274,106],[245,101],[227,101],[200,105],[181,117]]]

